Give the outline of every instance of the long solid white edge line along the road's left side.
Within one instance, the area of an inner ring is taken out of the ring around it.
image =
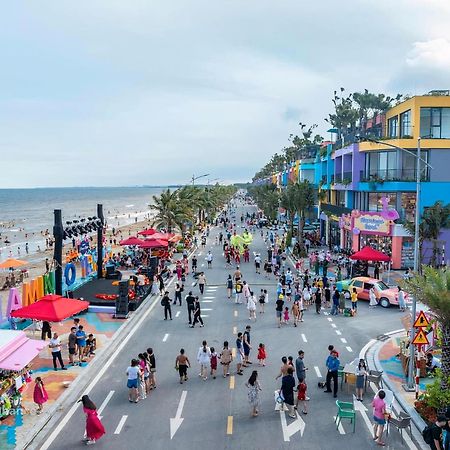
[[[169,281],[169,286],[173,282],[173,279]],[[99,380],[103,377],[104,373],[108,370],[109,366],[113,363],[113,361],[116,359],[117,355],[122,351],[122,349],[127,345],[128,341],[134,336],[134,333],[139,329],[139,327],[142,325],[142,323],[147,319],[149,314],[153,311],[155,306],[159,304],[159,302],[153,302],[150,307],[144,311],[142,316],[138,319],[138,321],[134,324],[133,328],[130,330],[130,332],[125,336],[123,341],[117,346],[116,351],[111,355],[111,357],[108,359],[105,365],[102,366],[102,368],[98,371],[95,378],[91,381],[91,383],[88,385],[88,387],[84,390],[82,395],[88,395],[94,386],[99,382]],[[53,432],[47,437],[47,440],[44,442],[44,444],[41,446],[41,450],[47,450],[50,445],[53,443],[53,441],[56,439],[56,437],[61,433],[61,430],[66,426],[66,424],[69,422],[70,418],[75,414],[75,411],[78,409],[79,403],[74,403],[72,405],[72,408],[69,409],[67,414],[61,419],[61,421],[56,425]]]

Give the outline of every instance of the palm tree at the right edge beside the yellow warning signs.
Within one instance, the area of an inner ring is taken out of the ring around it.
[[[450,389],[450,270],[422,267],[422,275],[404,282],[405,288],[417,300],[427,305],[436,317],[442,350],[441,390]],[[445,408],[450,405],[441,405]]]

